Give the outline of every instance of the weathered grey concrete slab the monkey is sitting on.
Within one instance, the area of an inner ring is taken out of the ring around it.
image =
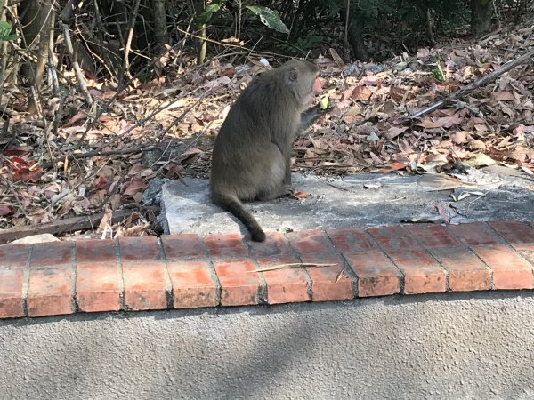
[[[443,176],[443,175],[441,175]],[[294,174],[295,190],[312,196],[295,200],[247,203],[247,208],[266,230],[287,232],[309,228],[370,227],[398,224],[413,219],[442,222],[439,204],[451,223],[475,220],[534,220],[534,179],[505,167],[470,169],[458,174],[465,188],[436,190],[428,176],[360,174],[320,178]],[[467,184],[473,185],[469,187]],[[368,185],[376,188],[366,188]],[[161,188],[162,187],[162,188]],[[158,190],[161,188],[161,193]],[[158,198],[164,210],[160,222],[166,233],[223,234],[245,228],[231,214],[211,203],[208,181],[155,181],[146,198]]]

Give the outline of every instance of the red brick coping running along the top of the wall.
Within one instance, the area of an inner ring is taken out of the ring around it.
[[[0,318],[533,289],[533,268],[519,221],[7,244]]]

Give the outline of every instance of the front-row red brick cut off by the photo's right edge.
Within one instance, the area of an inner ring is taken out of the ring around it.
[[[475,252],[493,270],[495,289],[532,289],[532,266],[506,244],[473,246]]]

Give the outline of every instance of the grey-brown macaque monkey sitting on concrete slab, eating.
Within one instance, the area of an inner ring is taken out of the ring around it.
[[[319,105],[306,109],[320,91],[319,68],[311,62],[291,60],[264,72],[239,95],[215,140],[212,200],[241,220],[256,242],[265,233],[241,200],[293,193],[293,141],[321,115]]]

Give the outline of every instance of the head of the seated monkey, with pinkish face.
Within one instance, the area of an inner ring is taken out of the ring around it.
[[[287,86],[302,105],[308,104],[322,90],[319,68],[309,61],[290,60],[282,67]]]

